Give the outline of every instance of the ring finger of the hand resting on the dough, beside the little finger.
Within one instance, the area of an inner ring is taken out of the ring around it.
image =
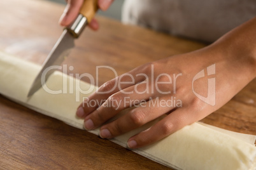
[[[134,108],[124,116],[101,127],[101,138],[114,138],[170,112],[175,106],[162,102],[167,100],[169,100],[169,96],[154,98],[146,103],[141,103],[140,107]]]

